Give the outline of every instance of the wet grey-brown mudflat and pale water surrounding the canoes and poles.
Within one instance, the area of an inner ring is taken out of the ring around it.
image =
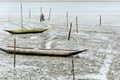
[[[42,49],[70,49],[87,52],[72,57],[49,57],[34,55],[16,55],[16,67],[13,67],[13,55],[0,51],[0,80],[73,80],[72,59],[76,80],[120,80],[119,43],[120,11],[119,2],[24,2],[23,25],[27,29],[52,26],[46,32],[37,34],[12,35],[5,29],[21,29],[20,3],[0,3],[0,46],[13,45]],[[72,5],[72,6],[71,6]],[[39,23],[39,8],[44,8],[51,20]],[[32,15],[29,20],[28,11]],[[69,24],[72,22],[71,38],[68,41],[69,27],[66,27],[66,12],[69,12]],[[99,26],[100,14],[102,26]],[[2,16],[4,15],[4,16]],[[34,16],[36,15],[36,16]],[[72,15],[72,16],[70,16]],[[78,16],[78,33],[75,17]]]

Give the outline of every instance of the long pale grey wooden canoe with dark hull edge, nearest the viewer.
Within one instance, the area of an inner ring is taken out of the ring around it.
[[[6,46],[0,47],[1,51],[14,54],[14,47]],[[33,48],[23,48],[23,47],[16,47],[16,54],[24,54],[24,55],[43,55],[43,56],[72,56],[81,52],[87,51],[81,50],[60,50],[60,49],[33,49]]]

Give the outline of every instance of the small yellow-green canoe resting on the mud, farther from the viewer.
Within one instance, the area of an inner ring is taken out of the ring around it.
[[[42,28],[38,28],[38,29],[4,30],[4,31],[7,31],[11,34],[29,34],[29,33],[42,33],[50,28],[51,27],[42,27]]]

